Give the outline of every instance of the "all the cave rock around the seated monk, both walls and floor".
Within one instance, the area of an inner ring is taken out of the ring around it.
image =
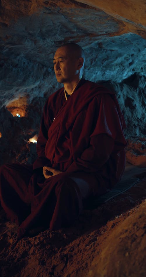
[[[84,48],[84,77],[115,90],[127,124],[127,168],[135,165],[125,178],[143,179],[85,210],[73,227],[32,238],[18,240],[1,212],[1,276],[145,276],[145,34],[144,0],[1,0],[0,165],[36,159],[29,139],[60,87],[53,54],[70,41]]]

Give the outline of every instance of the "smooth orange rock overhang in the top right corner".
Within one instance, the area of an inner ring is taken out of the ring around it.
[[[145,0],[78,0],[78,2],[99,8],[119,22],[123,22],[121,33],[133,32],[146,38]]]

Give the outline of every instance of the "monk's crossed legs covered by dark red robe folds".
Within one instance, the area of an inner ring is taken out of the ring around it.
[[[20,225],[21,234],[38,219],[50,230],[71,225],[84,200],[98,192],[97,178],[86,172],[63,172],[44,179],[41,187],[30,165],[6,164],[0,173],[1,206],[9,219]]]

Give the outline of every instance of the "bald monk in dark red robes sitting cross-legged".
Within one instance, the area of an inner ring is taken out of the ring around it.
[[[33,166],[1,166],[1,206],[18,224],[19,237],[34,226],[57,230],[73,224],[125,168],[125,122],[115,94],[82,77],[79,45],[60,46],[53,63],[63,87],[44,106],[37,160]]]

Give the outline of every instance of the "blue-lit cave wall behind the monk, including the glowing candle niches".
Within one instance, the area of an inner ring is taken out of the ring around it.
[[[144,1],[114,3],[1,1],[0,164],[35,160],[36,144],[28,141],[39,132],[47,97],[61,86],[53,55],[68,41],[85,51],[84,77],[114,89],[126,138],[145,138]]]

